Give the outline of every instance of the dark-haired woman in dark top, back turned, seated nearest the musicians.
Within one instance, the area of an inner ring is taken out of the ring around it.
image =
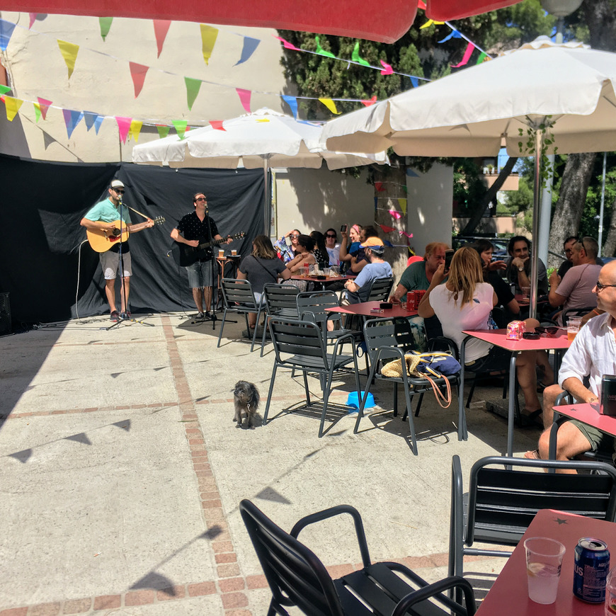
[[[278,258],[268,236],[258,235],[253,240],[252,252],[239,264],[237,278],[249,281],[254,298],[259,304],[263,295],[263,285],[278,283],[278,278],[288,280],[291,278],[291,272]],[[254,329],[256,314],[248,315],[248,323],[250,329]]]

